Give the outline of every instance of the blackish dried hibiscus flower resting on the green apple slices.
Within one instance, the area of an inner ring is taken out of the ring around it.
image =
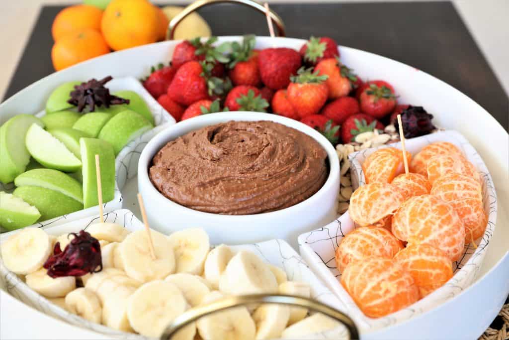
[[[78,112],[88,106],[90,112],[95,111],[96,106],[109,108],[110,105],[128,104],[129,99],[114,96],[109,93],[109,89],[104,87],[104,84],[112,80],[113,77],[108,75],[104,79],[98,81],[93,78],[86,83],[74,86],[74,91],[71,91],[71,99],[67,100],[69,104],[78,107]]]

